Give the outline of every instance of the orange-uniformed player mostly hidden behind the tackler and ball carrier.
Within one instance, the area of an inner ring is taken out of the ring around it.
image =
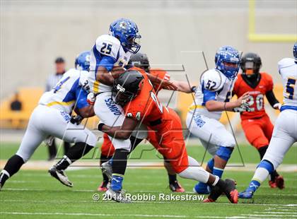
[[[150,73],[153,76],[156,76],[158,78],[161,78],[161,80],[169,81],[170,75],[164,71],[163,69],[151,69],[151,66],[148,61],[148,57],[146,54],[138,52],[137,54],[132,54],[132,56],[129,59],[129,67],[136,66],[140,69],[143,69],[147,73]],[[183,81],[173,81],[173,83],[177,86],[177,90],[184,92],[184,93],[192,93],[192,87],[189,85],[189,83],[183,82]],[[162,86],[160,83],[153,84],[154,90],[156,90],[156,93],[158,94],[158,91],[162,89]],[[195,87],[194,87],[195,88]],[[172,110],[173,111],[173,110]],[[174,111],[173,111],[174,112]],[[174,112],[174,114],[176,114]],[[145,131],[146,132],[146,131]],[[146,134],[138,134],[137,138],[134,138],[132,136],[132,145],[134,148],[141,143],[143,138],[146,138],[152,145],[157,145],[156,141],[156,135],[152,131],[146,132]],[[110,141],[110,138],[108,138],[107,134],[103,134],[103,144],[100,148],[101,155],[100,155],[100,166],[107,162],[107,160],[110,160],[112,158],[112,155],[115,153],[115,148],[112,146],[112,142]],[[185,189],[182,188],[180,183],[177,181],[177,176],[173,170],[173,168],[170,165],[170,162],[164,158],[164,167],[168,172],[168,181],[169,181],[169,188],[171,191],[175,192],[184,192]],[[103,173],[103,182],[99,185],[98,191],[106,191],[107,185],[108,185],[109,179],[106,174]]]

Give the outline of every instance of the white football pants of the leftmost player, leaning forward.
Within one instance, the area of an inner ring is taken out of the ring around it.
[[[72,124],[69,120],[70,115],[64,111],[38,105],[30,116],[27,130],[16,155],[27,162],[48,136],[54,136],[69,143],[85,142],[89,146],[95,146],[96,136],[82,124]]]

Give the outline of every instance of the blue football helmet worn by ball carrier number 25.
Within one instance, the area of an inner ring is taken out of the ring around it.
[[[129,51],[133,54],[139,52],[141,35],[139,35],[136,23],[132,20],[126,18],[115,20],[110,24],[110,35],[120,40],[125,52]]]

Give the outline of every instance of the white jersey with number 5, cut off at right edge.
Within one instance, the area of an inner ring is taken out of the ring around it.
[[[284,105],[297,107],[297,61],[285,58],[278,65],[284,87]]]

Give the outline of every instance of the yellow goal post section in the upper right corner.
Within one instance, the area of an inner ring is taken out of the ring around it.
[[[249,0],[248,10],[248,40],[252,42],[296,42],[296,34],[262,34],[255,32],[255,4],[256,0]]]

